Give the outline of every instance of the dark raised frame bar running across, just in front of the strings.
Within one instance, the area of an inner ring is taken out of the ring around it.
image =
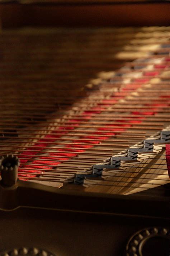
[[[0,209],[4,211],[11,211],[19,207],[31,207],[101,215],[170,218],[168,196],[148,197],[84,193],[56,189],[32,182],[25,183],[20,180],[10,188],[4,188],[0,185],[0,192],[3,193]]]

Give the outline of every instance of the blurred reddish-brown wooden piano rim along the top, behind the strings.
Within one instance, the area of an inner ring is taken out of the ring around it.
[[[123,0],[124,1],[124,0]],[[22,26],[169,26],[170,3],[0,4],[2,28]],[[8,15],[6,15],[8,13]],[[49,15],[50,13],[50,15]]]

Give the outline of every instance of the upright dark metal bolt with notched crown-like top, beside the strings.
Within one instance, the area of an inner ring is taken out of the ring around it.
[[[1,183],[6,187],[16,184],[18,179],[18,167],[20,161],[18,157],[13,155],[5,155],[0,157]]]

